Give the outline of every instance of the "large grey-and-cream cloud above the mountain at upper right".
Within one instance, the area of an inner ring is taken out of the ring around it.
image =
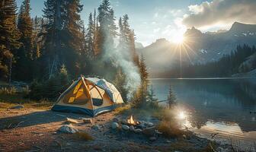
[[[256,24],[256,0],[213,0],[190,5],[182,24],[187,27],[209,27],[239,21]]]

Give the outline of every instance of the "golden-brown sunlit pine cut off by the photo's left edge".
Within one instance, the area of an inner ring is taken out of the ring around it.
[[[7,78],[13,52],[21,46],[16,26],[16,3],[5,0],[0,3],[0,78]]]

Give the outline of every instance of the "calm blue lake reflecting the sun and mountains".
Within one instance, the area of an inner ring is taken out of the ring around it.
[[[219,141],[256,143],[256,79],[151,79],[158,100],[166,100],[171,85],[187,117],[184,122],[198,135]],[[165,103],[162,103],[165,105]],[[234,143],[235,144],[235,143]]]

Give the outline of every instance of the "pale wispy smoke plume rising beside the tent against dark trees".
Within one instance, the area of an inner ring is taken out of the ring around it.
[[[107,42],[107,41],[106,41]],[[119,39],[115,42],[120,42]],[[132,97],[132,93],[139,87],[140,74],[139,68],[134,65],[133,56],[128,47],[120,43],[113,46],[113,43],[104,43],[104,60],[113,59],[116,67],[120,67],[126,76],[126,84],[124,88],[128,90],[128,99]]]

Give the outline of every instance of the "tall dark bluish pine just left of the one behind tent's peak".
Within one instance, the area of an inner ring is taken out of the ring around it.
[[[46,78],[53,77],[59,71],[62,65],[62,33],[63,29],[63,1],[47,0],[44,2],[43,17],[46,22],[43,23],[43,48],[41,68]]]

